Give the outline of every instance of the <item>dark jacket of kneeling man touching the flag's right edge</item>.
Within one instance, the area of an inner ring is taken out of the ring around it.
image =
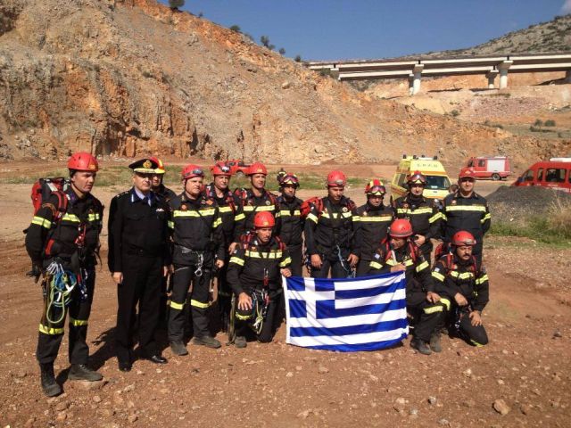
[[[414,254],[413,254],[414,253]],[[414,292],[434,292],[434,283],[430,275],[430,265],[422,255],[416,243],[407,241],[401,248],[391,251],[388,242],[381,243],[370,263],[370,275],[385,274],[393,266],[402,263],[407,280],[407,295]]]

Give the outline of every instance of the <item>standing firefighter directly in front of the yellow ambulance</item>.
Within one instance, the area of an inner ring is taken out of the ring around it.
[[[409,192],[393,202],[395,215],[396,218],[406,218],[410,221],[413,239],[420,247],[422,255],[430,263],[431,239],[440,238],[442,216],[434,201],[422,195],[426,187],[426,177],[420,171],[407,176],[407,185]]]

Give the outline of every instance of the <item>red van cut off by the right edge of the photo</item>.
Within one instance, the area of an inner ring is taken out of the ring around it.
[[[571,193],[571,158],[536,162],[513,185],[542,185]]]

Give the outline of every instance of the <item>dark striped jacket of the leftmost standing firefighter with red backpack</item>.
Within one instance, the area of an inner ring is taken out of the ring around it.
[[[58,207],[57,196],[52,194],[32,218],[26,234],[26,250],[32,261],[42,265],[44,261],[59,257],[70,260],[77,253],[83,268],[95,266],[95,252],[99,249],[102,229],[103,205],[91,193],[79,198],[70,187],[65,191],[68,206],[62,218],[55,222]],[[85,228],[85,239],[78,243]]]

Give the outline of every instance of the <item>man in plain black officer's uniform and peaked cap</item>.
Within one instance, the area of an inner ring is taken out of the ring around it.
[[[150,159],[131,163],[133,187],[112,199],[109,213],[108,264],[119,303],[115,349],[123,372],[131,370],[136,331],[140,356],[167,363],[154,340],[161,284],[170,266],[169,205],[151,191],[157,167]]]

